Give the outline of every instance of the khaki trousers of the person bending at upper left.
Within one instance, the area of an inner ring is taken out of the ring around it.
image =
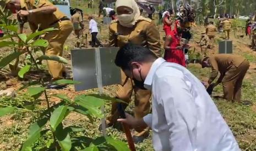
[[[73,31],[73,24],[69,20],[59,21],[54,28],[58,30],[49,32],[45,35],[45,39],[49,42],[45,54],[48,56],[62,56],[63,45],[67,40],[69,34]],[[52,75],[53,80],[61,79],[64,66],[57,61],[47,61],[49,73]]]

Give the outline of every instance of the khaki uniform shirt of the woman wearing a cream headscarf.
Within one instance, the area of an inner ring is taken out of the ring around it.
[[[109,32],[110,47],[123,47],[128,42],[132,42],[148,47],[159,57],[162,55],[160,34],[150,19],[139,20],[132,28],[124,27],[118,20],[113,20]]]

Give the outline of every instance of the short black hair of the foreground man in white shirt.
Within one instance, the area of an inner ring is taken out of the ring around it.
[[[130,63],[132,62],[150,62],[157,59],[157,56],[146,47],[141,45],[128,43],[119,49],[115,63],[122,69],[130,69]]]

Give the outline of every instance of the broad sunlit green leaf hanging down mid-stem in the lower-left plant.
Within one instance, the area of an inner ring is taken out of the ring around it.
[[[50,118],[50,125],[51,125],[53,131],[56,131],[57,126],[65,118],[65,115],[67,112],[67,107],[68,106],[59,106],[52,112],[52,115]]]

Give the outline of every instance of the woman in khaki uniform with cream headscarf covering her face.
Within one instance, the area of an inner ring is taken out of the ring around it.
[[[160,34],[153,21],[140,16],[140,10],[134,0],[117,0],[117,20],[111,22],[109,28],[110,47],[123,47],[128,42],[148,47],[157,56],[161,56]],[[122,83],[117,86],[118,98],[129,103],[133,90],[135,92],[135,118],[142,118],[150,112],[150,96],[148,90],[144,90],[126,77],[121,71]],[[134,86],[135,84],[135,86]],[[143,84],[142,84],[143,87]],[[118,119],[117,103],[112,104],[111,116],[107,118],[107,125],[113,125]],[[145,128],[145,129],[144,129]],[[137,128],[133,133],[134,142],[141,142],[149,135],[149,128]]]

